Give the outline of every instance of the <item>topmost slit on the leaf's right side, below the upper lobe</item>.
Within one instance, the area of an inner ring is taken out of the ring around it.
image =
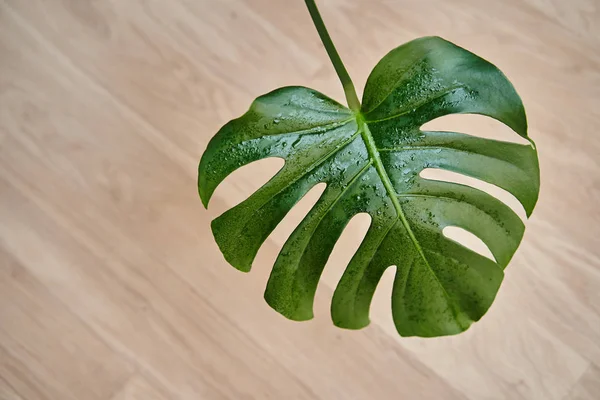
[[[517,144],[530,143],[502,122],[479,114],[450,114],[427,122],[423,131],[461,132],[485,139]]]

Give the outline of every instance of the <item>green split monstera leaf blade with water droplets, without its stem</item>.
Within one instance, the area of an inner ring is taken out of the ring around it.
[[[213,221],[223,255],[249,271],[277,224],[324,182],[322,196],[277,258],[267,302],[288,318],[312,318],[317,284],[336,241],[353,216],[368,213],[369,230],[335,290],[334,323],[366,326],[375,288],[396,266],[392,313],[402,336],[466,330],[494,300],[524,226],[489,194],[419,173],[441,168],[489,182],[512,193],[530,215],[539,167],[533,142],[420,129],[453,113],[495,118],[529,140],[523,105],[502,72],[437,37],[387,54],[367,81],[360,112],[303,87],[259,97],[215,135],[200,162],[198,187],[206,206],[240,166],[266,157],[285,160],[268,183]],[[481,238],[495,261],[446,238],[447,226]]]

